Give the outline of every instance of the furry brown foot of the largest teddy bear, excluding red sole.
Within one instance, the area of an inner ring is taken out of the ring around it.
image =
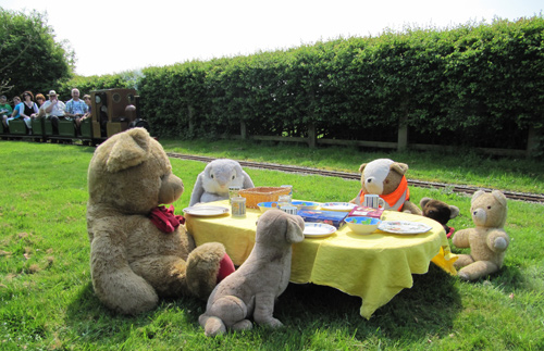
[[[208,299],[218,284],[225,254],[225,248],[220,242],[203,243],[189,253],[186,277],[188,289],[195,297]]]

